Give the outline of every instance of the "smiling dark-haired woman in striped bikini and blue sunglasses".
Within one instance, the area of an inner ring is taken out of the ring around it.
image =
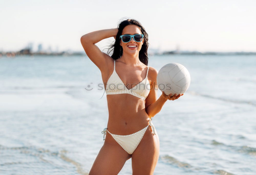
[[[111,57],[95,45],[109,37],[116,39],[108,51],[113,50]],[[133,174],[154,172],[159,138],[152,119],[167,100],[180,95],[157,99],[158,71],[148,66],[147,41],[147,32],[134,19],[81,37],[86,54],[101,71],[109,110],[108,125],[102,131],[104,144],[89,174],[118,174],[130,158]]]

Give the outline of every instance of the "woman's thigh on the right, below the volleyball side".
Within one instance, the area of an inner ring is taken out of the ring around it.
[[[156,131],[155,131],[156,132]],[[159,138],[149,126],[132,154],[132,174],[153,174],[159,158]]]

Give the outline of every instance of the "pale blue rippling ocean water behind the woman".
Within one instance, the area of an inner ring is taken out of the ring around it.
[[[256,56],[150,56],[148,65],[172,62],[191,84],[154,116],[154,174],[256,174]],[[88,174],[104,143],[103,92],[87,56],[1,57],[0,174]],[[119,174],[132,174],[131,159]]]

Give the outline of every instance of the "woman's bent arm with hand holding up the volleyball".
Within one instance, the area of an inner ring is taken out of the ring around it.
[[[154,117],[158,112],[161,111],[162,107],[164,106],[164,103],[167,100],[176,100],[183,95],[183,94],[182,95],[175,94],[172,96],[172,94],[169,94],[167,96],[164,94],[164,92],[162,92],[162,95],[157,99],[157,90],[158,90],[157,81],[156,81],[157,74],[158,74],[158,71],[152,67],[150,71],[150,77],[151,77],[150,93],[146,98],[146,104],[145,104],[146,112],[150,118]]]

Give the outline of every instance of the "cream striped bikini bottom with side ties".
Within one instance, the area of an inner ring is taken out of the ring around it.
[[[155,126],[152,123],[152,118],[149,120],[149,125],[147,125],[146,127],[144,127],[142,130],[135,132],[133,134],[129,134],[129,135],[116,135],[116,134],[112,134],[110,133],[107,128],[105,128],[101,133],[103,134],[103,140],[105,140],[105,135],[106,135],[106,131],[108,131],[109,134],[112,135],[112,137],[115,139],[115,141],[129,154],[132,154],[135,149],[137,148],[137,146],[139,145],[139,143],[141,142],[142,137],[144,136],[147,127],[151,126],[151,129],[153,130],[154,134],[155,133]]]

